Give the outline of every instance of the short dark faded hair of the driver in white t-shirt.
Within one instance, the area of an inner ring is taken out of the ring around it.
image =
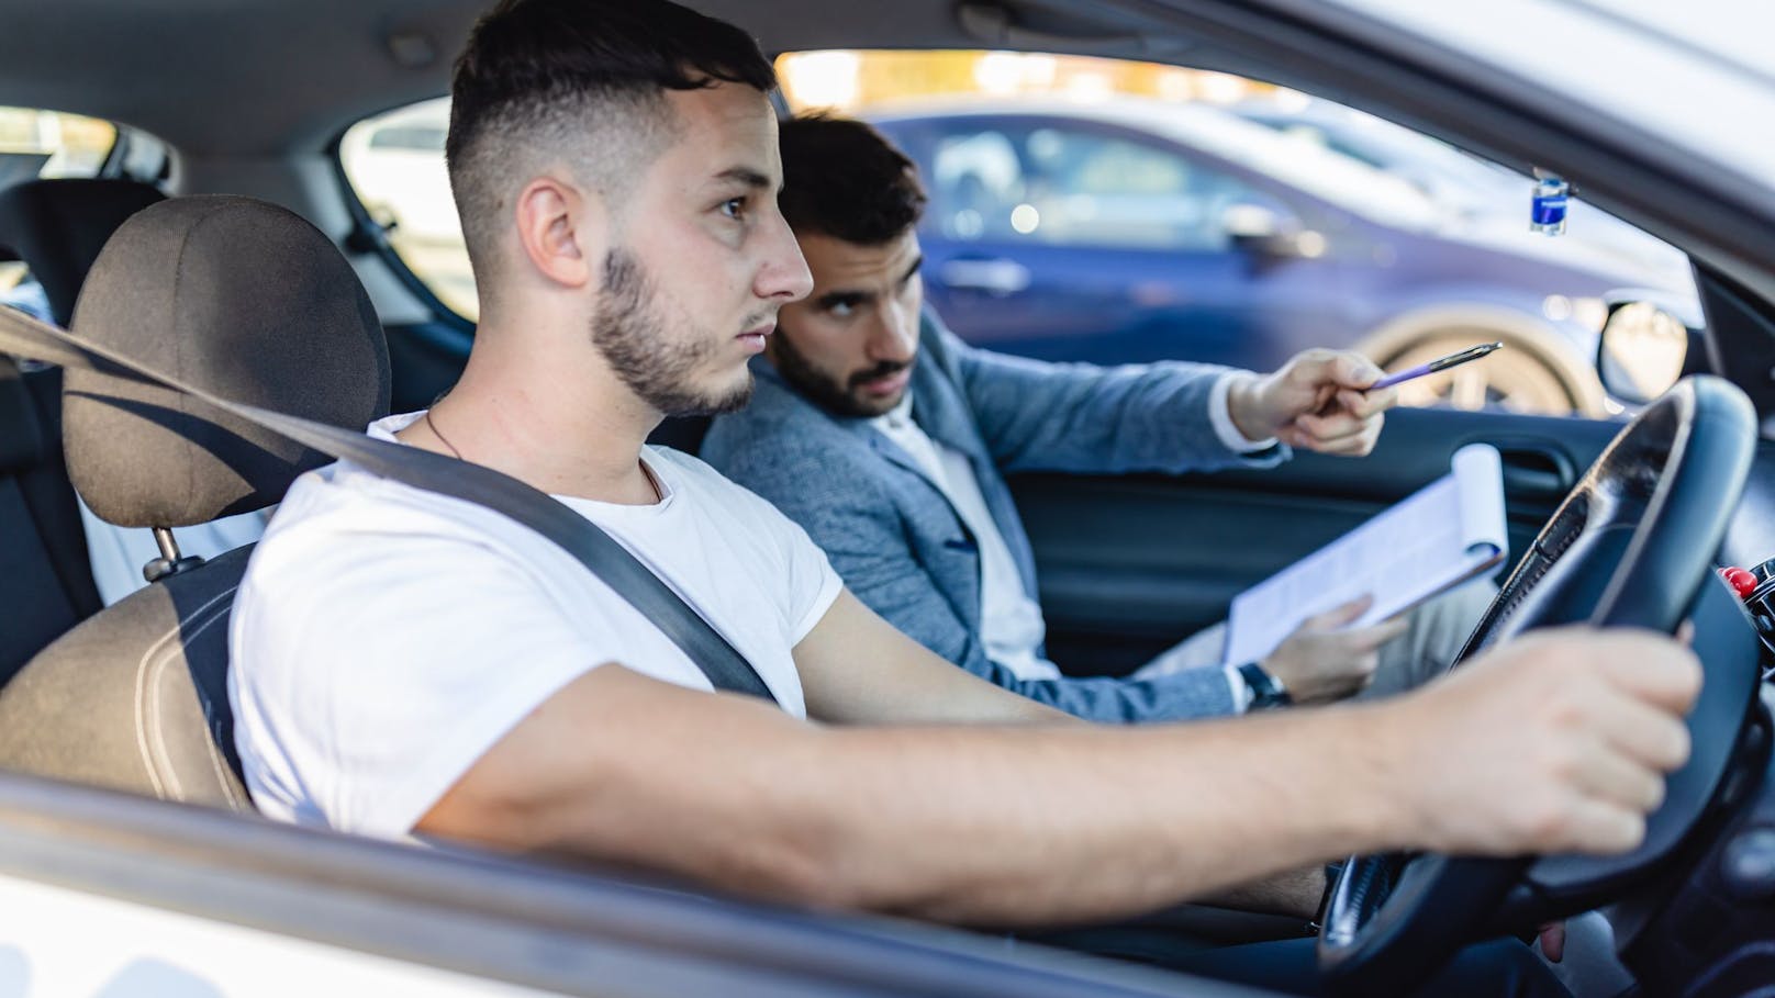
[[[628,167],[604,170],[618,181],[669,133],[666,91],[715,82],[769,92],[776,71],[744,30],[669,0],[501,0],[476,23],[451,78],[444,154],[470,256],[502,208],[499,183],[515,179],[515,160],[532,146],[559,153],[584,142],[604,163]],[[634,135],[588,133],[588,119],[625,114]]]

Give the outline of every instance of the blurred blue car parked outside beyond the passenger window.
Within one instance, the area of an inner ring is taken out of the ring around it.
[[[1468,366],[1489,380],[1440,391],[1470,408],[1605,416],[1603,295],[1672,284],[1528,233],[1526,183],[1514,222],[1475,217],[1207,107],[971,101],[870,121],[930,194],[928,300],[1006,353],[1273,369],[1340,346],[1399,368],[1503,339],[1507,362]]]

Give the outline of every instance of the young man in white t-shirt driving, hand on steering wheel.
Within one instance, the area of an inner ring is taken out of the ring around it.
[[[1642,838],[1699,685],[1667,638],[1546,634],[1386,703],[1097,728],[937,659],[767,503],[644,448],[666,414],[740,405],[809,288],[772,85],[747,36],[664,0],[501,4],[453,83],[474,352],[437,407],[371,433],[561,497],[776,703],[714,693],[540,536],[335,463],[291,488],[231,623],[263,812],[992,927],[1209,897],[1308,913],[1317,865],[1351,852]],[[1438,993],[1495,991],[1496,961],[1544,989],[1511,947]]]

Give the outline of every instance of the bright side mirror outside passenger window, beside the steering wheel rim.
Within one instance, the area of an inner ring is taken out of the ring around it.
[[[1608,392],[1626,403],[1645,405],[1683,375],[1704,368],[1700,316],[1693,304],[1654,291],[1608,300],[1608,320],[1596,345],[1596,373]]]

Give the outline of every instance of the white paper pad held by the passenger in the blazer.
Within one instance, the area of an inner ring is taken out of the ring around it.
[[[1239,593],[1225,661],[1255,662],[1308,616],[1372,595],[1351,627],[1379,623],[1503,561],[1503,462],[1489,444],[1454,453],[1450,472],[1289,568]]]

